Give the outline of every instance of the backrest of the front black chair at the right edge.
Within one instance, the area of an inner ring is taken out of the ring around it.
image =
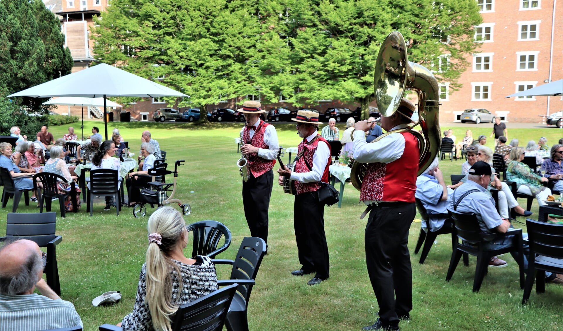
[[[526,219],[530,252],[563,259],[563,224]]]

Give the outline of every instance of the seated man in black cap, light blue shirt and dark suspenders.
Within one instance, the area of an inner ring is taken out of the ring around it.
[[[523,148],[522,148],[523,149]],[[514,149],[515,150],[515,149]],[[477,161],[469,170],[467,183],[464,183],[455,190],[448,197],[448,205],[450,210],[454,210],[455,203],[458,203],[455,208],[458,212],[474,213],[479,221],[479,226],[482,233],[506,233],[511,231],[511,224],[508,220],[503,220],[498,214],[493,197],[486,194],[486,187],[491,182],[491,169],[488,164],[483,161]],[[467,194],[463,199],[463,194],[477,190]],[[522,233],[522,237],[528,237],[528,234]],[[471,243],[468,243],[471,244]],[[511,238],[502,237],[498,241],[485,242],[485,250],[499,250],[501,248],[510,247]],[[517,253],[512,252],[511,255],[517,259]],[[529,246],[524,245],[524,269],[528,268]],[[489,266],[491,266],[489,264]],[[546,272],[546,280],[552,283],[563,283],[563,276]]]

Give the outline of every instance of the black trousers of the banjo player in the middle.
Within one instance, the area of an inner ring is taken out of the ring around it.
[[[316,272],[316,277],[327,279],[328,246],[324,234],[324,203],[319,202],[317,192],[295,196],[293,205],[293,227],[299,252],[301,269]]]

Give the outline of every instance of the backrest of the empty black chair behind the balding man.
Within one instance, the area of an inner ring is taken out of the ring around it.
[[[57,213],[8,213],[6,224],[6,239],[29,239],[39,247],[46,247],[56,235]],[[15,238],[14,238],[15,239]]]

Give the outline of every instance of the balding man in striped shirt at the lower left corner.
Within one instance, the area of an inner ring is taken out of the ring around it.
[[[82,326],[74,305],[43,280],[46,255],[33,241],[0,247],[0,329],[46,330]],[[33,293],[35,288],[41,293]]]

